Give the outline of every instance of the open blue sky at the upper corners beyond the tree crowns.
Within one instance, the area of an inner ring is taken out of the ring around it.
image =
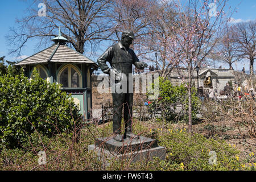
[[[30,1],[24,0],[0,1],[0,56],[6,56],[7,60],[15,61],[17,59],[15,55],[8,55],[10,47],[7,45],[5,35],[8,34],[9,27],[16,26],[16,18],[22,18],[26,15],[26,9],[27,7],[29,7],[29,2]],[[237,7],[237,12],[232,15],[232,20],[234,23],[256,19],[255,0],[230,0],[229,5],[232,7],[232,9],[235,9]],[[31,56],[32,54],[36,53],[35,42],[28,42],[26,48],[23,49],[22,53],[22,58],[26,56]],[[93,59],[92,57],[90,58]],[[243,61],[241,64],[238,64],[237,69],[241,70],[243,64],[245,64],[246,70],[249,70],[249,61]],[[221,64],[217,64],[217,66],[219,65]],[[222,64],[222,67],[228,68],[228,65]],[[234,65],[234,69],[236,69],[236,65]],[[254,69],[256,69],[256,63],[254,63]]]

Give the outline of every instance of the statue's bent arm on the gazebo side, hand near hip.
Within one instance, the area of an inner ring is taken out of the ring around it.
[[[102,72],[109,74],[110,73],[110,68],[106,64],[108,61],[111,64],[113,58],[113,47],[109,47],[98,59],[97,63],[100,66]]]

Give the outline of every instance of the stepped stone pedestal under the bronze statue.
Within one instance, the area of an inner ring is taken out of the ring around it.
[[[138,160],[152,160],[154,156],[164,160],[166,149],[158,146],[157,140],[142,137],[139,139],[126,138],[117,142],[113,137],[96,139],[95,144],[88,147],[89,151],[95,151],[99,160],[109,166],[107,159],[131,159],[131,162]]]

